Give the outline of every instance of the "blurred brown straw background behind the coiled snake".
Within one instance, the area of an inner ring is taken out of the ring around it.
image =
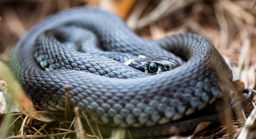
[[[16,42],[47,16],[75,6],[92,6],[114,12],[149,39],[187,32],[204,36],[230,65],[234,80],[256,89],[255,5],[256,0],[0,0],[0,59],[7,61]],[[233,121],[234,137],[242,130],[238,124]],[[207,138],[229,137],[225,126],[208,133]]]

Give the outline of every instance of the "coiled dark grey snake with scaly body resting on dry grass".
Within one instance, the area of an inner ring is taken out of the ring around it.
[[[35,105],[64,111],[68,86],[70,105],[102,134],[119,127],[134,138],[185,133],[211,121],[233,79],[204,37],[146,39],[115,14],[92,7],[38,23],[18,41],[9,66]]]

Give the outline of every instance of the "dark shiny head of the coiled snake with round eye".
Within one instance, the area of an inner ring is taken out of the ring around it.
[[[180,63],[177,60],[169,57],[153,57],[132,61],[129,66],[142,72],[154,75],[172,70],[180,66]]]

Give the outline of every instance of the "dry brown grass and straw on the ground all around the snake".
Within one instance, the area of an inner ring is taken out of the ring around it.
[[[255,0],[3,0],[0,1],[0,58],[7,61],[14,44],[40,20],[57,11],[82,5],[99,6],[115,12],[135,32],[147,38],[159,39],[186,32],[202,35],[214,44],[230,65],[234,80],[240,79],[246,87],[255,89]],[[4,50],[5,53],[1,53]],[[0,64],[0,69],[3,66],[6,65]],[[3,77],[6,74],[2,73],[5,71],[0,73],[0,78],[6,78]],[[3,86],[1,84],[1,88]],[[17,88],[10,92],[16,92]],[[7,102],[11,102],[8,98]],[[211,125],[205,128],[208,124],[202,123],[193,135],[186,138],[255,138],[255,103],[254,98],[251,105],[243,109],[240,118],[230,120],[229,126]],[[11,103],[7,106],[10,110]],[[28,114],[30,106],[26,106],[23,106],[26,110],[23,113],[27,116],[22,113],[0,116],[0,138],[102,138],[99,130],[93,130],[86,114],[80,115],[76,109],[75,118],[68,119],[69,107],[65,107],[65,114],[38,111],[31,115]],[[41,122],[37,115],[52,121]],[[82,126],[83,119],[88,125]],[[122,129],[113,131],[111,138],[123,138],[125,132],[129,134],[129,131]]]

